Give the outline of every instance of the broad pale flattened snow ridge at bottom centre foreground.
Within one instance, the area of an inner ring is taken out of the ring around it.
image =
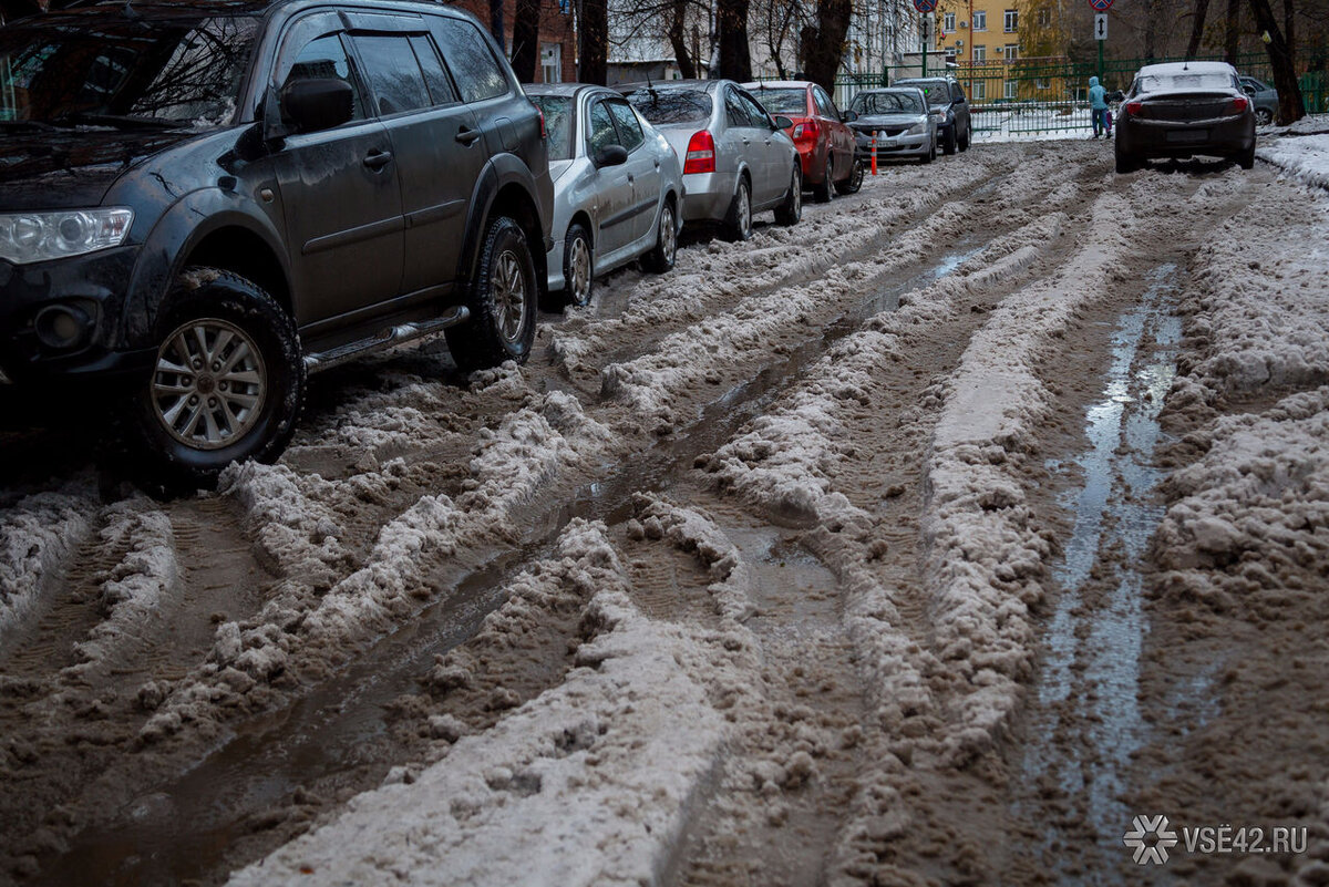
[[[690,673],[707,653],[635,609],[602,524],[571,524],[562,554],[618,574],[563,684],[229,883],[658,882],[726,734]]]

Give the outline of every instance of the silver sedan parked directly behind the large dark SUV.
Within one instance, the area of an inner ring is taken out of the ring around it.
[[[668,141],[603,86],[528,85],[526,96],[549,131],[549,291],[585,305],[595,278],[634,259],[672,268],[683,174]]]

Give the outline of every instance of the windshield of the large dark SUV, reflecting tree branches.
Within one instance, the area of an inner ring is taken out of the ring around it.
[[[37,21],[0,31],[0,121],[222,126],[258,19]]]

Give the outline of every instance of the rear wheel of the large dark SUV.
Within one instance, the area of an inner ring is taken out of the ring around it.
[[[485,231],[480,268],[466,292],[470,323],[444,331],[457,368],[470,372],[506,360],[525,363],[536,341],[537,300],[526,234],[501,215]]]

